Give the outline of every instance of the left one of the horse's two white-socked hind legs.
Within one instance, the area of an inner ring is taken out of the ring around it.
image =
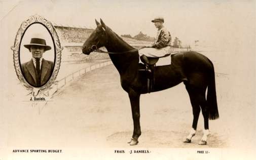
[[[190,102],[192,105],[192,110],[193,110],[193,124],[192,124],[192,129],[187,136],[186,140],[184,143],[190,143],[191,139],[193,136],[196,134],[196,129],[197,129],[197,122],[200,114],[200,106],[199,106],[199,98],[198,98],[198,92],[196,90],[190,88],[189,86],[186,86],[186,89],[189,93],[190,96]]]

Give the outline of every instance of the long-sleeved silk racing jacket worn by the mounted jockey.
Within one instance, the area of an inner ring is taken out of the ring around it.
[[[166,46],[170,46],[170,43],[171,43],[171,34],[165,27],[162,27],[159,30],[159,34],[157,35],[156,42],[153,44],[152,47],[163,48]]]

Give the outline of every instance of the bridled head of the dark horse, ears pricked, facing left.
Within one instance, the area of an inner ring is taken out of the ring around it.
[[[89,38],[85,41],[82,51],[84,54],[89,55],[93,50],[103,47],[106,44],[106,25],[100,19],[100,23],[95,19],[96,29],[91,33]]]

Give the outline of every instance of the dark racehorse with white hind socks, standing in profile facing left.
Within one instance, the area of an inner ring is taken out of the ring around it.
[[[82,47],[82,52],[89,55],[97,48],[105,47],[110,59],[120,74],[121,86],[128,93],[133,119],[133,134],[128,142],[137,145],[141,135],[139,99],[141,94],[148,93],[147,76],[139,71],[144,65],[139,63],[138,50],[127,44],[118,34],[95,19],[96,29],[90,34]],[[100,50],[101,51],[101,50]],[[157,92],[184,83],[189,94],[193,123],[184,143],[191,143],[196,134],[197,122],[202,110],[204,118],[203,137],[199,145],[207,144],[209,135],[208,119],[217,119],[217,99],[215,90],[215,75],[212,62],[204,55],[189,51],[171,55],[171,64],[156,66],[154,69],[155,85],[152,92]],[[206,94],[207,89],[207,96]]]

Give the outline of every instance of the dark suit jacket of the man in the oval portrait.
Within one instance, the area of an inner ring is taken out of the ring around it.
[[[54,64],[52,61],[42,60],[41,66],[41,85],[36,85],[36,73],[32,59],[26,63],[21,64],[23,76],[26,81],[33,87],[41,87],[47,83],[52,75]]]

